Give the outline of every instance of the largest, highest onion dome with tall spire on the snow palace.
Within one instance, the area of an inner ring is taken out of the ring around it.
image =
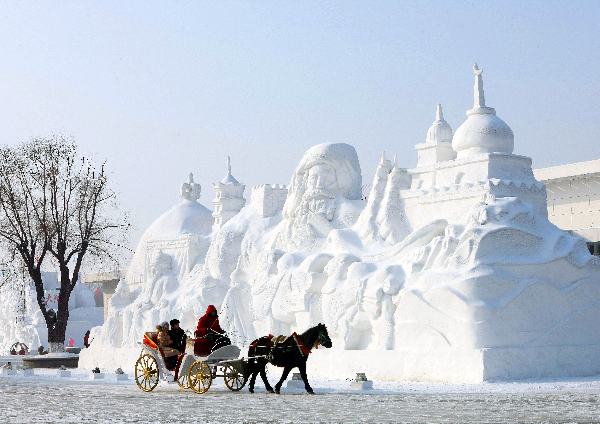
[[[464,158],[482,153],[512,153],[515,136],[510,127],[496,116],[496,110],[485,106],[483,95],[483,72],[473,65],[475,72],[475,104],[467,111],[467,120],[456,130],[452,148],[457,157]]]

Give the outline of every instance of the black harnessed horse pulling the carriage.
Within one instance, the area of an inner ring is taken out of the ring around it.
[[[310,384],[308,384],[308,378],[306,377],[306,360],[308,359],[311,349],[318,345],[326,348],[331,347],[331,339],[329,338],[325,324],[319,324],[309,328],[300,335],[294,333],[283,343],[274,344],[273,338],[268,336],[253,341],[248,349],[248,357],[262,357],[253,358],[248,361],[248,372],[249,375],[251,375],[249,386],[250,393],[254,393],[254,383],[256,382],[256,376],[259,373],[265,383],[267,391],[273,393],[273,388],[269,384],[265,373],[265,367],[268,361],[275,366],[283,367],[281,379],[275,385],[275,393],[279,394],[281,385],[287,379],[288,374],[292,368],[297,367],[302,376],[302,380],[304,381],[304,388],[308,393],[314,394]]]

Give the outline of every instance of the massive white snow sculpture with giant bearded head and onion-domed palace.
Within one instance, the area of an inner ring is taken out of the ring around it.
[[[334,349],[314,353],[311,374],[345,378],[356,363],[423,381],[600,373],[600,259],[548,221],[545,187],[474,71],[466,122],[452,137],[438,105],[415,168],[382,154],[365,202],[352,146],[310,148],[281,212],[243,208],[183,277],[176,256],[155,252],[155,272],[143,288],[128,277],[101,331],[122,313],[124,346],[167,314],[191,329],[214,304],[241,345],[325,322]]]

